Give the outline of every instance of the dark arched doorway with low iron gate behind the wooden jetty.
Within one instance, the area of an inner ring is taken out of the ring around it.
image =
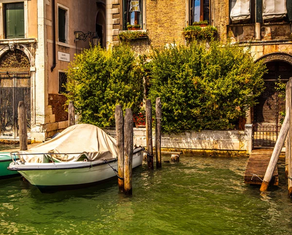
[[[280,56],[280,57],[279,57]],[[268,73],[264,75],[265,90],[258,98],[254,107],[254,147],[274,147],[278,133],[281,129],[281,113],[285,111],[285,98],[276,90],[278,78],[286,83],[292,77],[292,57],[283,54],[266,56],[265,64]]]

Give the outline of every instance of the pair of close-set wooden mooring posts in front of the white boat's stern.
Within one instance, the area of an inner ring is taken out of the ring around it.
[[[125,121],[121,105],[116,106],[115,125],[118,148],[118,179],[119,191],[132,195],[132,162],[133,162],[133,115],[130,108],[126,109]]]

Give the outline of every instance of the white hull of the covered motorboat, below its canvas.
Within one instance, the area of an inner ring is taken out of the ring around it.
[[[142,165],[142,150],[134,153],[132,167]],[[108,180],[115,175],[113,169],[118,169],[116,159],[109,160],[109,164],[103,160],[91,162],[60,162],[60,163],[34,163],[14,164],[9,169],[17,170],[31,184],[37,186],[40,191],[68,190],[88,187],[96,183]],[[111,167],[113,168],[111,168]]]

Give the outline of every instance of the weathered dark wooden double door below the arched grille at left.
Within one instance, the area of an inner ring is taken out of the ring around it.
[[[0,137],[17,138],[18,103],[24,101],[27,111],[27,132],[31,132],[30,72],[0,74]]]

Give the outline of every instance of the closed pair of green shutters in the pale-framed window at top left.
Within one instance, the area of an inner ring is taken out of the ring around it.
[[[24,38],[24,3],[5,4],[5,38]]]

